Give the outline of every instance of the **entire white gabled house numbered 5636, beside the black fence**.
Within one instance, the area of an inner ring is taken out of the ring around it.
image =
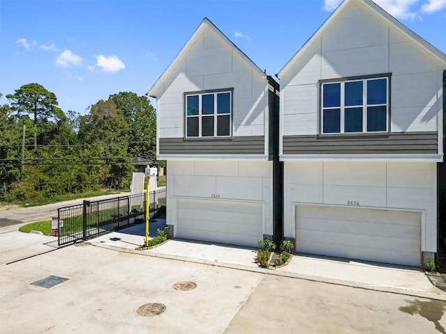
[[[278,84],[205,18],[148,95],[174,237],[257,246],[272,235]]]

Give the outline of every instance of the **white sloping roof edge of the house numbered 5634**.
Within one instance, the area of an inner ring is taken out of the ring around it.
[[[340,15],[340,13],[344,10],[344,8],[346,8],[346,6],[348,6],[348,4],[355,2],[355,1],[357,1],[359,3],[363,3],[365,6],[368,6],[369,8],[371,8],[371,10],[373,10],[377,15],[380,15],[381,17],[386,19],[387,22],[389,22],[389,24],[391,24],[395,29],[397,29],[398,31],[400,31],[401,33],[406,35],[409,40],[415,42],[420,47],[423,47],[426,51],[429,52],[429,54],[431,54],[433,56],[433,58],[436,58],[438,61],[440,61],[440,63],[443,63],[446,66],[446,54],[443,54],[442,51],[440,51],[439,49],[437,49],[436,47],[431,45],[429,42],[427,42],[426,40],[421,38],[420,35],[417,35],[413,31],[408,29],[407,26],[405,26],[404,24],[399,22],[392,15],[390,15],[385,10],[383,10],[383,8],[380,8],[380,6],[378,6],[376,3],[374,3],[374,1],[371,1],[371,0],[344,0],[338,6],[338,8],[336,10],[334,10],[332,15],[330,15],[330,17],[328,17],[328,19],[319,27],[319,29],[316,31],[316,33],[314,33],[312,35],[312,37],[309,38],[309,40],[307,40],[307,42],[305,42],[305,44],[300,48],[300,50],[298,50],[294,54],[294,56],[289,60],[289,62],[286,63],[284,67],[282,67],[282,70],[279,71],[279,73],[277,74],[277,77],[280,79],[283,76],[283,74],[287,70],[289,70],[289,68],[291,66],[293,66],[300,59],[302,54],[305,54],[305,51],[307,51],[307,49],[309,49],[309,47],[313,44],[313,42],[315,40],[317,40],[319,37],[321,37],[321,34],[323,33],[323,31],[325,29],[327,29],[328,26],[330,26],[330,24],[334,21],[334,19],[336,19],[336,17],[338,15]]]

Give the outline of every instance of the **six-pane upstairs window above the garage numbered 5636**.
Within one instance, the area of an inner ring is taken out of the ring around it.
[[[229,137],[232,90],[186,93],[186,137]]]

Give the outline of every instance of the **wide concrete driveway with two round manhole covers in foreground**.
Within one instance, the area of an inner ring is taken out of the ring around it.
[[[88,243],[1,264],[0,286],[1,333],[446,333],[445,301]]]

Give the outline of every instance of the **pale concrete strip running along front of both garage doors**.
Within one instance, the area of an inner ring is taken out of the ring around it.
[[[156,228],[163,225],[164,220],[152,222],[150,234],[155,235]],[[171,239],[155,248],[135,250],[137,246],[144,244],[144,236],[145,224],[139,224],[91,239],[89,243],[93,246],[139,255],[265,272],[272,275],[446,301],[446,292],[433,286],[421,269],[309,255],[294,255],[289,264],[279,269],[262,269],[254,262],[255,248]]]

